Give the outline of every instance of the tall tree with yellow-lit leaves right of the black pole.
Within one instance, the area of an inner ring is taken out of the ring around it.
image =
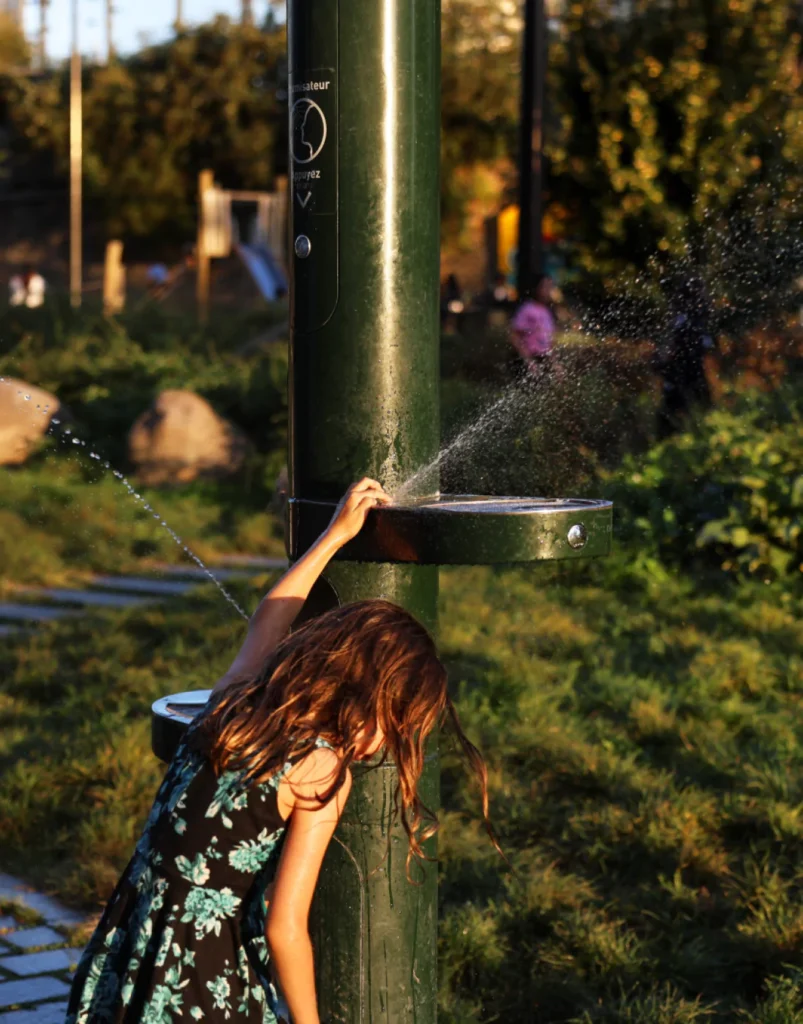
[[[570,0],[549,188],[588,273],[690,261],[755,307],[800,272],[799,28],[790,0]]]

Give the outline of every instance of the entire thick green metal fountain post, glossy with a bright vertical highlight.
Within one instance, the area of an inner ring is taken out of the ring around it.
[[[436,0],[289,0],[291,494],[392,490],[438,450]],[[295,552],[296,554],[298,552]],[[334,563],[329,600],[434,627],[437,569]],[[324,598],[325,602],[327,598]],[[423,788],[437,803],[436,755]],[[322,1019],[433,1024],[436,879],[388,837],[392,766],[355,772],[312,912]]]

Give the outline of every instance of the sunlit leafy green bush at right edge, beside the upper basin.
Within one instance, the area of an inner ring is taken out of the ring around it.
[[[732,395],[608,482],[622,538],[669,567],[800,578],[803,389]]]

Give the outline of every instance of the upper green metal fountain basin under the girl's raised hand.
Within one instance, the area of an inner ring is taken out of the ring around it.
[[[321,536],[335,504],[291,499],[288,552]],[[581,498],[439,495],[374,509],[338,558],[419,565],[498,565],[610,551],[612,504]]]

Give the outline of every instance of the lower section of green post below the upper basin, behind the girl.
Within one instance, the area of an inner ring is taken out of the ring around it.
[[[327,581],[342,603],[387,597],[433,628],[437,568],[333,564]],[[327,852],[311,913],[321,1019],[337,1024],[434,1024],[437,872],[407,878],[408,840],[390,825],[392,764],[357,765],[343,818]],[[420,792],[438,806],[436,745],[430,744]],[[436,855],[427,845],[427,855]]]

